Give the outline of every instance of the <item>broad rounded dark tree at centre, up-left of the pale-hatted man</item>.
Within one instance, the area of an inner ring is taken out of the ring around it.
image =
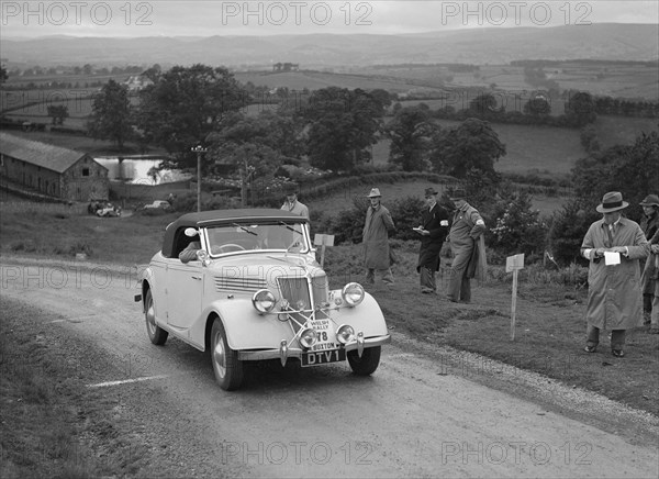
[[[384,108],[380,97],[360,90],[330,87],[316,90],[302,112],[309,123],[308,152],[312,165],[350,170],[370,159]]]

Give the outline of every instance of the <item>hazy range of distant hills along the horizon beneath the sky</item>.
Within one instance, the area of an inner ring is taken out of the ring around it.
[[[225,65],[300,68],[402,63],[507,64],[517,59],[657,60],[659,25],[606,23],[470,29],[409,35],[2,40],[8,65]]]

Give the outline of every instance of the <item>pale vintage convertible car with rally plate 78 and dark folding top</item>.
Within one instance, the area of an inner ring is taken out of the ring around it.
[[[198,250],[183,263],[189,245]],[[281,210],[189,213],[170,223],[135,297],[152,343],[169,334],[210,350],[220,387],[237,389],[247,360],[316,366],[347,359],[367,376],[389,343],[376,300],[356,282],[330,290],[309,219]]]

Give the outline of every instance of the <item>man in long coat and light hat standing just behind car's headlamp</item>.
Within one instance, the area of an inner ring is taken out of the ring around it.
[[[368,194],[370,207],[366,211],[364,223],[364,266],[366,267],[366,282],[376,281],[376,270],[387,286],[393,285],[391,272],[391,257],[389,252],[389,232],[395,231],[389,210],[381,204],[382,194],[378,188],[372,188]]]

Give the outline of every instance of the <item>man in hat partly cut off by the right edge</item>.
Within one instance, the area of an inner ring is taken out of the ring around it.
[[[643,218],[640,219],[640,229],[646,238],[650,242],[650,255],[646,259],[645,268],[640,277],[643,285],[643,309],[650,316],[650,333],[659,333],[659,293],[657,293],[657,276],[659,275],[659,255],[655,253],[659,249],[659,197],[648,194],[640,202],[643,207]],[[654,314],[654,318],[652,318]]]

